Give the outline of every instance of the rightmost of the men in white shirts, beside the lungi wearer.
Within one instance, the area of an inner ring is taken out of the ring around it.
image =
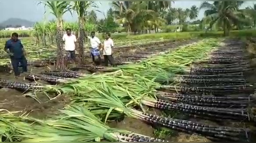
[[[104,41],[104,47],[103,47],[103,56],[104,56],[104,66],[108,66],[108,62],[115,66],[113,53],[114,53],[114,42],[110,38],[110,33],[106,34],[106,40]]]

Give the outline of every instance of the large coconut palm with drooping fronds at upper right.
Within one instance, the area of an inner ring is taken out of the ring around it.
[[[204,2],[200,9],[205,10],[205,22],[210,21],[210,27],[222,27],[224,35],[228,36],[232,26],[246,22],[244,14],[239,11],[243,1],[214,1]]]

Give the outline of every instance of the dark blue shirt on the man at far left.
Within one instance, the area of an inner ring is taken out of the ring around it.
[[[13,56],[11,56],[11,58],[14,57],[15,59],[19,59],[22,56],[24,56],[24,54],[23,54],[23,45],[22,45],[20,40],[17,40],[17,41],[8,40],[8,41],[6,41],[4,50],[7,50],[7,49],[9,49],[11,53],[13,53]]]

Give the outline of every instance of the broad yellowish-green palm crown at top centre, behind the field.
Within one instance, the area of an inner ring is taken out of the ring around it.
[[[165,10],[170,8],[171,2],[166,1],[115,1],[111,3],[116,22],[127,27],[131,31],[158,29],[166,23]]]

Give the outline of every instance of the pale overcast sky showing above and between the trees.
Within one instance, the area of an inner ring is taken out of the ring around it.
[[[0,1],[0,22],[3,22],[4,20],[10,19],[10,18],[19,18],[19,19],[26,19],[33,22],[43,20],[44,17],[46,19],[53,19],[53,16],[51,14],[45,13],[45,8],[43,5],[38,5],[37,1],[31,1],[31,0],[1,0]],[[97,1],[99,8],[98,10],[102,11],[103,13],[106,13],[109,6],[109,1]],[[196,6],[200,6],[202,1],[175,1],[173,4],[173,7],[175,8],[190,8],[194,4]],[[252,6],[253,3],[256,3],[255,1],[247,1],[243,8],[246,6]],[[99,18],[104,18],[103,13],[98,13],[97,16]],[[201,10],[199,13],[199,19],[204,16],[204,10]],[[65,14],[64,16],[65,20],[68,21],[76,21],[77,17],[76,14],[71,16],[69,13]]]

